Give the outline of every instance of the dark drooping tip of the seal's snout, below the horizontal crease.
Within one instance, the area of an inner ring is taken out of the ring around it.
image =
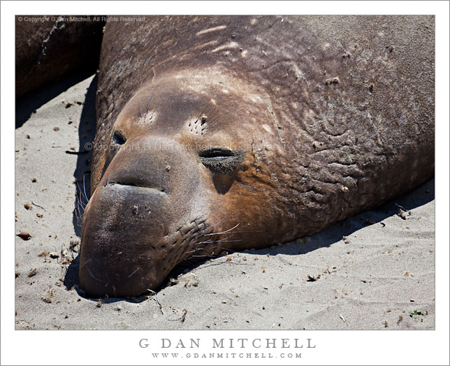
[[[166,196],[112,185],[93,196],[83,217],[80,284],[88,295],[124,297],[156,289],[164,273]]]

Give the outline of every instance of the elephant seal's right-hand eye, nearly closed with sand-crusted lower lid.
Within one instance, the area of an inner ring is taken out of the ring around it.
[[[245,150],[214,147],[198,152],[198,160],[214,173],[230,174],[244,160]]]

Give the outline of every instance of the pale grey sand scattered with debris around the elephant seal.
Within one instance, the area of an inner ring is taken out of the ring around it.
[[[16,330],[435,329],[434,180],[317,235],[178,270],[148,298],[83,297],[95,80],[75,80],[17,103],[15,233],[31,238],[15,237]]]

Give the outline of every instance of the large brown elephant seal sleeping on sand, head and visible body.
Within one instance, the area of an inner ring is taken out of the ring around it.
[[[147,17],[106,25],[88,295],[311,235],[434,174],[434,17]]]

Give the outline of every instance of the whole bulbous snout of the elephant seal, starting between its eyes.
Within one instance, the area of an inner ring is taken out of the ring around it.
[[[183,256],[173,248],[180,221],[203,212],[198,163],[170,140],[135,144],[117,152],[83,215],[80,285],[87,295],[157,290]]]

